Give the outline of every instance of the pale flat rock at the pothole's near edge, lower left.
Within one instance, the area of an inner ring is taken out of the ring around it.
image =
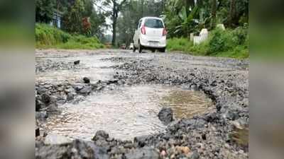
[[[45,136],[45,145],[61,145],[66,143],[71,143],[72,141],[65,136],[60,136],[58,134],[48,134]]]

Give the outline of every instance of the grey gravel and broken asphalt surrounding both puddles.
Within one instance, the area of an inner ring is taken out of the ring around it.
[[[249,61],[185,54],[131,54],[130,51],[108,49],[93,55],[99,53],[115,54],[102,59],[117,62],[116,66],[111,66],[118,71],[114,79],[60,85],[37,81],[35,110],[47,111],[49,116],[60,103],[76,102],[78,97],[109,86],[143,83],[202,91],[212,99],[216,109],[192,119],[176,119],[169,122],[164,133],[137,136],[133,141],[113,139],[107,132],[98,131],[93,141],[77,139],[71,143],[47,145],[40,136],[36,138],[35,158],[249,158]],[[38,62],[36,70],[74,69],[72,61],[59,65],[48,61],[46,66],[45,63]],[[37,115],[38,120],[42,117],[46,116]]]

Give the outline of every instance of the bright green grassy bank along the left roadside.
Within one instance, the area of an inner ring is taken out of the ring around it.
[[[35,24],[36,48],[40,49],[99,49],[104,48],[97,37],[71,35],[47,24]]]

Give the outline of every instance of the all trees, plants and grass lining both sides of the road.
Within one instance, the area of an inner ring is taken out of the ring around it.
[[[35,30],[36,46],[41,48],[93,49],[102,47],[99,41],[111,43],[111,48],[129,46],[138,20],[157,16],[164,19],[170,51],[249,57],[249,0],[36,0],[35,6],[35,21],[40,23]],[[41,24],[52,22],[57,13],[63,32]],[[225,30],[217,25],[224,25]],[[193,45],[190,34],[197,36],[203,28],[209,31],[209,38]],[[112,33],[106,34],[106,30]]]

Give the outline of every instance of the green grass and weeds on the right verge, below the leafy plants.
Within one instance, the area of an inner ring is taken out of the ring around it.
[[[249,57],[249,36],[246,28],[235,30],[212,30],[209,38],[200,45],[193,45],[187,38],[171,38],[167,41],[168,51],[181,51],[197,56],[231,57],[246,59]]]

